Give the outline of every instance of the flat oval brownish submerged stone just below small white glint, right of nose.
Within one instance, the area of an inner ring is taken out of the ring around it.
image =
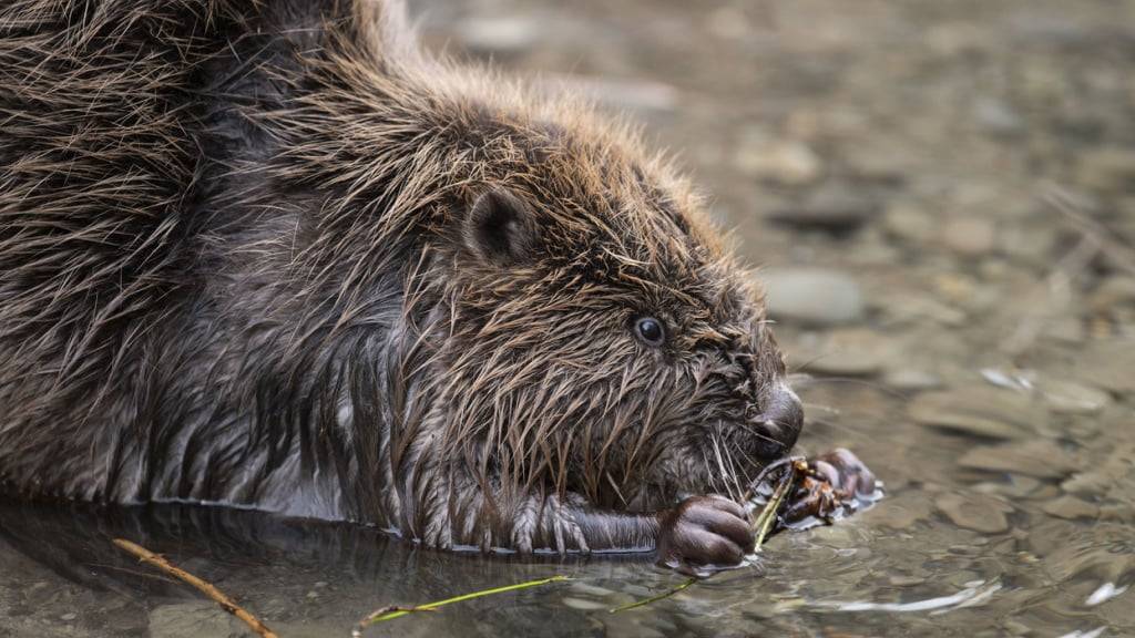
[[[989,386],[966,386],[918,395],[907,413],[924,426],[987,438],[1018,438],[1048,420],[1028,394]]]

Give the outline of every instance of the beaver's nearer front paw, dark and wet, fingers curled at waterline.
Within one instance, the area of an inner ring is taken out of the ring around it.
[[[753,551],[745,509],[722,496],[692,496],[659,512],[658,562],[686,573],[732,566]]]

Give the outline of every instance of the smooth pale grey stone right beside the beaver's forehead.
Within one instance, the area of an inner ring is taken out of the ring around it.
[[[863,319],[864,300],[855,279],[819,268],[770,269],[759,276],[773,318],[815,325],[854,324]]]

